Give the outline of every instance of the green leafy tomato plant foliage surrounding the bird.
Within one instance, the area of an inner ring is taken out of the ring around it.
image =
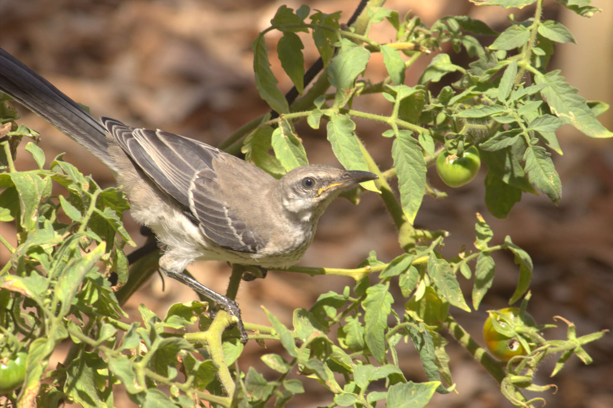
[[[588,0],[557,1],[584,17],[600,11]],[[566,322],[566,340],[544,338],[541,331],[551,325],[514,329],[506,334],[516,336],[527,355],[511,358],[506,368],[490,361],[453,317],[471,311],[457,273],[473,279],[474,270],[471,305],[476,310],[495,278],[493,252],[511,251],[518,273],[509,303],[523,297],[523,313],[533,273],[530,255],[509,236],[502,244],[490,246],[494,233],[481,214],[477,214],[474,250],[463,250],[451,259],[439,252],[446,232],[413,229],[424,194],[436,194],[427,184],[426,170],[441,154],[461,157],[476,146],[487,165],[485,205],[490,214],[503,218],[524,192],[540,191],[555,204],[562,198],[550,157],[550,151],[562,154],[555,135],[562,124],[590,137],[612,136],[596,119],[608,108],[606,104],[587,102],[560,72],[547,72],[552,43],[574,43],[574,39],[557,21],[541,21],[542,0],[473,2],[505,8],[535,4],[535,14],[527,21],[512,21],[499,34],[465,16],[444,17],[428,27],[418,17],[401,18],[398,12],[379,7],[377,1],[369,2],[350,28],[339,25],[340,12],[311,13],[307,6],[297,10],[281,6],[271,26],[254,39],[256,88],[280,116],[264,115],[252,121],[224,145],[245,137],[241,151],[246,160],[280,177],[307,164],[294,122],[307,119],[318,129],[325,121],[327,138],[341,164],[379,175],[376,182],[364,183],[353,192],[352,200],[357,202],[365,189],[380,193],[405,251],[389,263],[371,252],[352,270],[288,268],[351,276],[356,283],[342,293],[322,293],[309,309],[294,311],[291,328],[268,311],[269,326],[245,322],[252,341],[277,339],[283,346],[283,355],[262,356],[279,373],[275,379],[253,368],[241,371],[244,368],[237,363],[243,350],[240,336],[236,329],[225,330],[232,318],[220,311],[211,320],[203,314],[206,303],[175,304],[163,318],[141,305],[142,322],[128,325],[119,320],[126,315],[121,304],[142,284],[143,276],[156,270],[159,254],[139,260],[128,270],[123,247],[133,243],[121,217],[129,206],[118,189],[101,190],[61,156],[45,165],[42,149],[32,142],[26,151],[38,168],[17,171],[13,157],[21,138],[38,141],[38,137],[34,130],[17,126],[17,111],[4,102],[6,98],[0,99],[2,123],[9,124],[0,151],[0,220],[14,222],[18,230],[17,247],[0,237],[12,254],[0,271],[0,357],[28,353],[23,385],[10,390],[10,402],[36,398],[39,406],[49,408],[67,401],[111,407],[113,386],[121,384],[132,401],[143,407],[207,403],[263,407],[270,406],[268,401],[283,407],[305,392],[303,383],[313,381],[329,391],[330,407],[423,407],[433,393],[455,388],[443,330],[484,365],[500,383],[503,395],[517,406],[533,406],[522,388],[544,391],[549,387],[532,383],[543,358],[562,353],[552,375],[573,354],[591,363],[582,346],[603,333],[577,338],[571,322]],[[391,25],[397,31],[395,41],[370,39],[368,33],[376,29],[375,24]],[[283,33],[276,51],[284,71],[303,94],[293,104],[288,104],[270,69],[265,34],[272,30]],[[324,72],[306,92],[305,45],[296,32],[312,34],[312,46],[324,63]],[[472,34],[495,39],[485,48]],[[438,52],[445,43],[454,52],[465,49],[474,61],[467,67],[454,64],[452,55]],[[389,77],[371,83],[364,72],[371,55],[379,52]],[[406,70],[434,52],[418,84],[404,85]],[[449,73],[461,77],[435,96],[430,87],[446,80]],[[334,89],[326,93],[330,85]],[[354,110],[354,100],[372,93],[381,94],[382,104],[389,102],[389,116]],[[388,128],[383,137],[394,138],[390,152],[394,168],[379,170],[356,136],[352,118],[378,121]],[[398,179],[399,201],[387,183],[393,177]],[[63,189],[60,195],[53,194],[57,191],[53,186]],[[403,299],[392,296],[395,287]],[[392,308],[394,304],[397,307]],[[188,332],[186,328],[195,323],[199,331]],[[61,342],[71,344],[68,357],[48,367],[51,353]],[[413,344],[428,382],[406,380],[397,355],[401,342]],[[287,378],[296,371],[302,374],[299,379]]]

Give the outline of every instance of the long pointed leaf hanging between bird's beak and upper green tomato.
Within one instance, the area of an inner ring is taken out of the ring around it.
[[[409,130],[399,130],[392,143],[392,157],[398,176],[402,210],[413,224],[425,193],[426,172],[424,154]]]

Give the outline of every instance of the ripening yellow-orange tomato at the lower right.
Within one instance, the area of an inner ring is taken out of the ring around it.
[[[520,319],[518,308],[504,308],[495,311],[495,313],[510,317],[517,326],[536,326],[535,319],[528,313],[524,315],[523,320]],[[500,319],[500,317],[497,317],[496,321],[501,326],[506,327],[506,323]],[[526,355],[526,350],[516,338],[507,337],[494,329],[491,316],[487,317],[483,325],[483,339],[485,340],[485,347],[487,347],[490,353],[498,358],[498,360],[509,361],[511,357],[515,357],[516,355]]]

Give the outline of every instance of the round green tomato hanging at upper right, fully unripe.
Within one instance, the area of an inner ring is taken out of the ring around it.
[[[441,151],[436,159],[436,172],[449,187],[460,187],[469,183],[479,172],[481,157],[475,146],[464,151],[462,157],[451,158],[448,151]]]

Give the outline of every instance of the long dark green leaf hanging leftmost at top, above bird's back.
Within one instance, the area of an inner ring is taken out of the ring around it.
[[[288,113],[289,105],[287,100],[276,84],[278,81],[275,75],[270,70],[270,62],[268,62],[268,50],[264,36],[260,34],[251,43],[253,50],[253,71],[256,75],[256,88],[259,91],[262,99],[266,101],[277,113]]]

